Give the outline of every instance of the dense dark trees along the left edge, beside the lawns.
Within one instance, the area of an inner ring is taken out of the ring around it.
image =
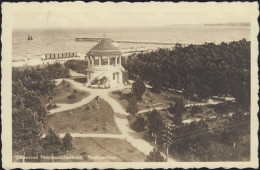
[[[69,72],[60,64],[12,70],[12,138],[14,154],[42,152],[41,137],[47,124],[47,107],[55,94],[54,78]]]

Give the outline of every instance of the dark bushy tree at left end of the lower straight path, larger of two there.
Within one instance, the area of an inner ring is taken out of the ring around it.
[[[43,140],[43,149],[46,154],[58,155],[62,148],[62,141],[58,134],[49,128],[46,137]]]

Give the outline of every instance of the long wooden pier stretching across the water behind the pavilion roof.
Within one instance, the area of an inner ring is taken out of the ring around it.
[[[151,45],[175,45],[176,44],[176,43],[167,43],[167,42],[120,41],[120,40],[112,40],[111,38],[75,38],[75,41],[76,42],[100,42],[104,39],[111,42],[128,43],[128,44],[151,44]]]

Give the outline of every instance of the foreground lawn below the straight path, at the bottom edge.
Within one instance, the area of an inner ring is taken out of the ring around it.
[[[86,152],[93,162],[144,162],[146,158],[124,139],[74,138],[73,144],[75,148],[66,155],[80,156]]]

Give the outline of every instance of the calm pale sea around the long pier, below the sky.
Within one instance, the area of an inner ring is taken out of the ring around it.
[[[13,30],[13,60],[39,58],[46,53],[87,53],[97,42],[75,42],[75,37],[106,37],[113,40],[157,41],[184,44],[250,40],[247,26],[172,26],[156,28],[98,28],[98,29],[31,29]],[[33,41],[27,40],[33,36]],[[120,48],[145,46],[148,49],[169,46],[115,44]]]

